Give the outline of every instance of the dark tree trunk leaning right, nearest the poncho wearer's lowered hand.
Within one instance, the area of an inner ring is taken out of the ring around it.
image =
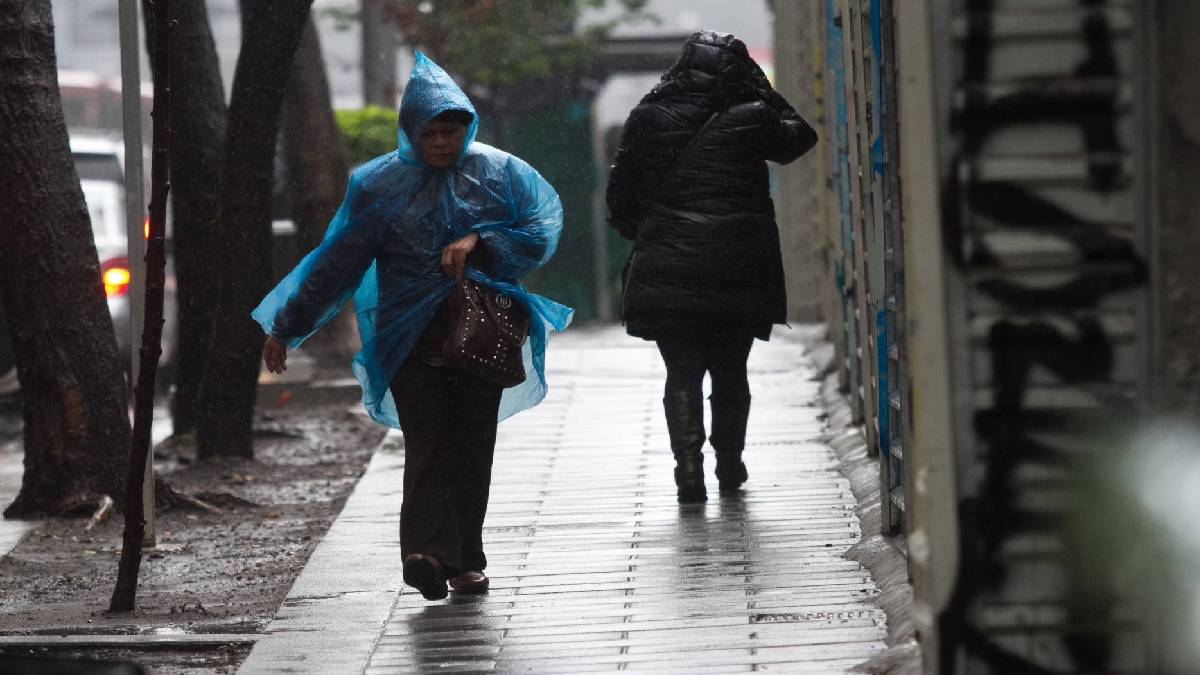
[[[245,0],[226,127],[222,261],[197,402],[197,455],[252,458],[263,333],[250,317],[271,279],[271,178],[283,90],[312,0]]]

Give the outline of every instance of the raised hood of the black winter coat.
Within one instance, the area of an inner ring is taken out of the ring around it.
[[[643,101],[678,94],[739,100],[752,94],[760,80],[766,76],[744,42],[727,32],[700,30],[688,37],[679,60]]]

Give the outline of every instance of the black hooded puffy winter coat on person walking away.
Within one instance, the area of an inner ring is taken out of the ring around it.
[[[766,162],[791,162],[816,141],[740,40],[688,38],[630,113],[608,179],[610,225],[634,240],[622,300],[630,335],[767,339],[785,322]]]

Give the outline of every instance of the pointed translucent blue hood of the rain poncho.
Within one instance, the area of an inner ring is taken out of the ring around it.
[[[416,53],[416,62],[404,85],[404,96],[400,100],[400,130],[396,138],[396,151],[407,163],[424,165],[416,151],[416,136],[433,118],[446,110],[466,110],[474,119],[467,127],[467,138],[462,144],[461,160],[467,148],[475,141],[479,131],[479,113],[470,98],[442,66],[425,54]]]

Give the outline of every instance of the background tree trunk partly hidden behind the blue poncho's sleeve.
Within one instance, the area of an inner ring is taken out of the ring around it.
[[[320,38],[312,18],[300,38],[288,80],[283,147],[296,250],[306,253],[324,238],[329,221],[342,203],[349,174],[346,148],[334,120]],[[347,305],[329,325],[305,342],[305,350],[322,365],[346,364],[354,356],[356,335],[354,315]]]

